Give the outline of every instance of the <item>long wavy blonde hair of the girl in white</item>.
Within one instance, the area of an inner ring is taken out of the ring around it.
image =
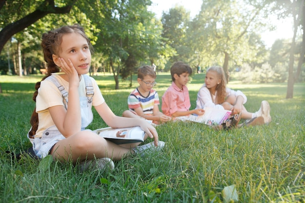
[[[211,66],[210,68],[208,68],[207,73],[209,71],[214,71],[215,73],[217,73],[218,79],[221,79],[221,82],[216,86],[217,95],[215,98],[215,104],[222,104],[226,101],[226,96],[227,96],[227,91],[226,91],[227,80],[225,77],[225,72],[223,68],[219,66]]]

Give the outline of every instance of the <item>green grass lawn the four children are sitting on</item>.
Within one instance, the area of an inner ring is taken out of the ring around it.
[[[228,185],[236,185],[241,203],[305,201],[304,83],[294,85],[293,99],[285,99],[286,83],[243,85],[233,80],[229,87],[248,96],[248,111],[269,101],[269,125],[215,131],[198,123],[168,123],[156,128],[167,144],[161,153],[127,157],[111,172],[79,173],[70,163],[27,156],[17,161],[5,152],[31,146],[26,134],[35,107],[34,86],[41,77],[0,76],[0,202],[219,203]],[[135,76],[132,88],[128,80],[120,81],[121,90],[114,90],[111,74],[94,77],[107,104],[121,115],[137,86]],[[191,109],[203,79],[195,74],[188,85]],[[162,73],[156,82],[161,98],[171,77]],[[94,115],[89,128],[106,127]]]

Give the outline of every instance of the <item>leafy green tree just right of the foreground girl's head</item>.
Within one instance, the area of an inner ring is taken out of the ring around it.
[[[161,28],[147,10],[150,4],[150,0],[106,1],[103,5],[93,1],[87,8],[100,9],[98,18],[96,14],[91,18],[100,30],[95,47],[107,58],[114,74],[115,89],[119,88],[119,75],[122,78],[132,75],[138,64],[149,58],[151,48],[161,42],[160,37],[154,35],[155,29]],[[157,55],[158,50],[154,51]]]

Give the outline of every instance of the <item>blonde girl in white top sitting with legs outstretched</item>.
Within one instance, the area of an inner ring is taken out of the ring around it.
[[[247,125],[262,125],[271,122],[270,106],[267,101],[262,101],[258,111],[248,112],[244,104],[246,95],[241,91],[233,91],[226,87],[227,80],[222,67],[212,66],[207,70],[205,83],[197,94],[196,108],[211,107],[232,111],[232,115],[240,114],[247,119]]]

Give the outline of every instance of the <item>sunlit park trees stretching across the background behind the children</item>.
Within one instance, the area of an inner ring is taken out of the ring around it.
[[[175,61],[190,64],[194,71],[198,66],[204,71],[220,65],[228,81],[236,70],[247,82],[287,81],[287,98],[293,95],[294,82],[304,81],[304,32],[297,36],[305,22],[304,0],[202,0],[194,18],[176,6],[160,19],[149,10],[151,4],[151,0],[3,0],[0,74],[44,71],[42,33],[79,23],[95,49],[91,74],[112,73],[115,89],[119,78],[129,78],[132,85],[132,75],[141,65],[169,71]],[[270,14],[292,17],[294,36],[290,41],[277,40],[268,49],[260,33],[272,27]]]

